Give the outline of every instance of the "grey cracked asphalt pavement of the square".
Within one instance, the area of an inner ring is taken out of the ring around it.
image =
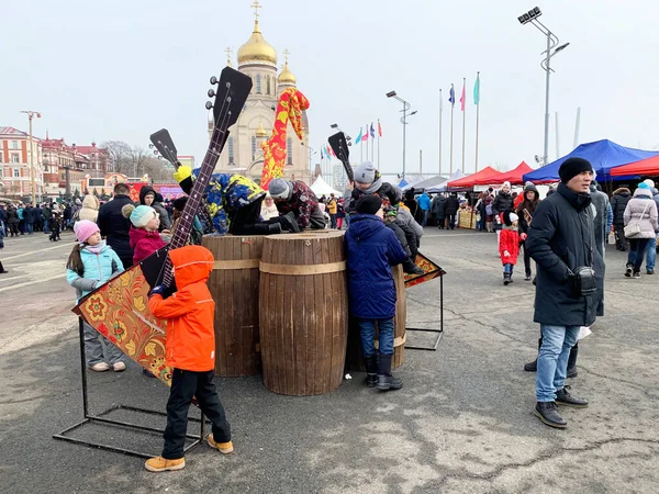
[[[659,492],[659,274],[623,277],[606,252],[605,317],[580,344],[572,392],[551,429],[533,415],[539,328],[534,287],[502,284],[493,234],[426,228],[422,251],[446,271],[445,335],[437,351],[407,350],[404,388],[379,393],[354,373],[313,397],[270,393],[259,377],[219,379],[235,453],[200,446],[180,472],[58,441],[82,418],[79,340],[65,280],[70,234],[7,238],[0,251],[0,492],[2,493],[607,493]],[[645,270],[644,270],[645,272]],[[437,327],[439,281],[407,290],[407,324]],[[407,335],[410,345],[432,335]],[[168,390],[131,363],[90,373],[90,408],[164,411]],[[191,411],[191,416],[197,416]],[[164,418],[109,416],[161,427]],[[190,430],[197,426],[190,425]],[[158,454],[158,435],[87,425],[75,437]]]

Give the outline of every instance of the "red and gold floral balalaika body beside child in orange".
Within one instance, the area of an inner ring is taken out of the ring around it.
[[[149,312],[148,291],[142,268],[134,266],[82,299],[74,312],[132,360],[171,385],[171,370],[165,360],[167,323]]]

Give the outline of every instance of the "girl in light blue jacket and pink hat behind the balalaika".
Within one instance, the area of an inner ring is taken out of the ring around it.
[[[101,240],[101,233],[96,223],[88,220],[76,222],[74,232],[79,244],[74,247],[66,263],[66,280],[76,289],[80,300],[124,269],[112,247],[105,245],[105,240]],[[112,368],[114,372],[121,372],[126,369],[122,351],[87,323],[85,353],[87,366],[93,371],[104,372]]]

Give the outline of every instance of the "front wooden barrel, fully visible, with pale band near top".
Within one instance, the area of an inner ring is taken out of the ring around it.
[[[260,263],[264,384],[309,396],[337,389],[348,336],[343,232],[271,235]]]

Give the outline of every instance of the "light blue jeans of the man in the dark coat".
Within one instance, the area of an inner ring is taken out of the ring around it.
[[[562,390],[568,373],[568,357],[577,343],[580,326],[549,326],[540,324],[543,346],[538,352],[536,398],[552,402],[556,392]]]

